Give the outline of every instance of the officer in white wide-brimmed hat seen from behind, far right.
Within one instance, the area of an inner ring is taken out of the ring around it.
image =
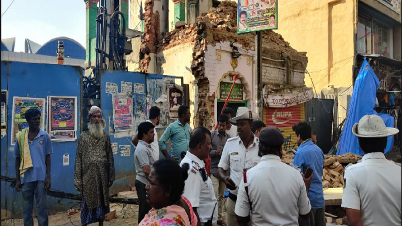
[[[362,161],[345,169],[342,207],[349,225],[402,224],[402,171],[387,160],[387,137],[399,132],[387,128],[378,115],[365,115],[352,132],[364,152]]]

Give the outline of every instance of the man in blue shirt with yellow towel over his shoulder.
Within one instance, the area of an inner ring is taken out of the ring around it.
[[[33,197],[35,194],[39,226],[49,224],[46,191],[51,187],[50,154],[53,153],[49,134],[39,126],[41,112],[28,109],[25,119],[29,127],[17,134],[14,147],[16,190],[23,195],[24,225],[33,225]],[[21,178],[20,178],[21,176]]]

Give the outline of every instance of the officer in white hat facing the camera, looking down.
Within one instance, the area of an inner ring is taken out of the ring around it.
[[[218,164],[219,177],[229,189],[229,199],[226,201],[226,223],[228,226],[244,225],[237,222],[234,208],[244,169],[252,168],[261,159],[258,155],[258,138],[251,132],[252,123],[257,119],[258,115],[246,107],[239,107],[236,117],[230,119],[231,123],[236,123],[239,136],[230,138],[226,142]],[[230,176],[226,176],[228,169],[230,169]]]

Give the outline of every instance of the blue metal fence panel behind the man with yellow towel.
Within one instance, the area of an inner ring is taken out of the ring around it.
[[[5,69],[4,69],[5,68]],[[8,77],[7,77],[8,70]],[[5,75],[4,75],[5,74]],[[10,62],[8,67],[2,62],[2,89],[3,84],[8,84],[8,122],[7,138],[3,142],[2,138],[2,175],[15,177],[15,160],[13,158],[14,146],[10,146],[11,128],[12,128],[12,97],[34,97],[47,98],[47,96],[73,96],[78,97],[77,123],[80,117],[80,96],[81,96],[81,78],[82,68],[55,65],[55,64],[27,64],[21,62]],[[7,82],[8,79],[8,82]],[[45,109],[45,112],[47,109]],[[45,121],[47,115],[43,114]],[[78,126],[79,127],[79,126]],[[46,125],[45,125],[46,128]],[[77,131],[77,136],[80,131]],[[6,144],[6,147],[3,145]],[[51,155],[51,182],[52,189],[74,193],[74,159],[76,153],[77,141],[75,142],[52,142],[53,154]],[[63,166],[63,154],[70,154],[70,165]],[[5,171],[3,159],[8,162],[8,172]],[[3,170],[4,169],[4,170]],[[3,191],[2,182],[2,209],[5,208],[3,197],[7,199],[7,210],[12,212],[12,216],[22,216],[21,193],[9,188],[7,195]],[[49,210],[57,212],[68,209],[71,205],[67,204],[71,200],[62,200],[48,196]]]

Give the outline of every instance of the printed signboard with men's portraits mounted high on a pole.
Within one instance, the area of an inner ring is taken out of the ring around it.
[[[278,29],[277,0],[238,0],[238,34],[272,29]]]

